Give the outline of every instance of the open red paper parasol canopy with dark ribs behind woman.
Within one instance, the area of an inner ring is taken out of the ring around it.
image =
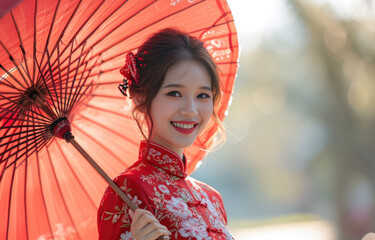
[[[220,68],[223,119],[238,60],[233,17],[224,0],[18,2],[0,4],[0,239],[95,239],[107,183],[51,130],[67,118],[111,177],[132,164],[141,136],[117,90],[119,69],[165,27],[205,42]],[[214,131],[186,150],[188,173]]]

